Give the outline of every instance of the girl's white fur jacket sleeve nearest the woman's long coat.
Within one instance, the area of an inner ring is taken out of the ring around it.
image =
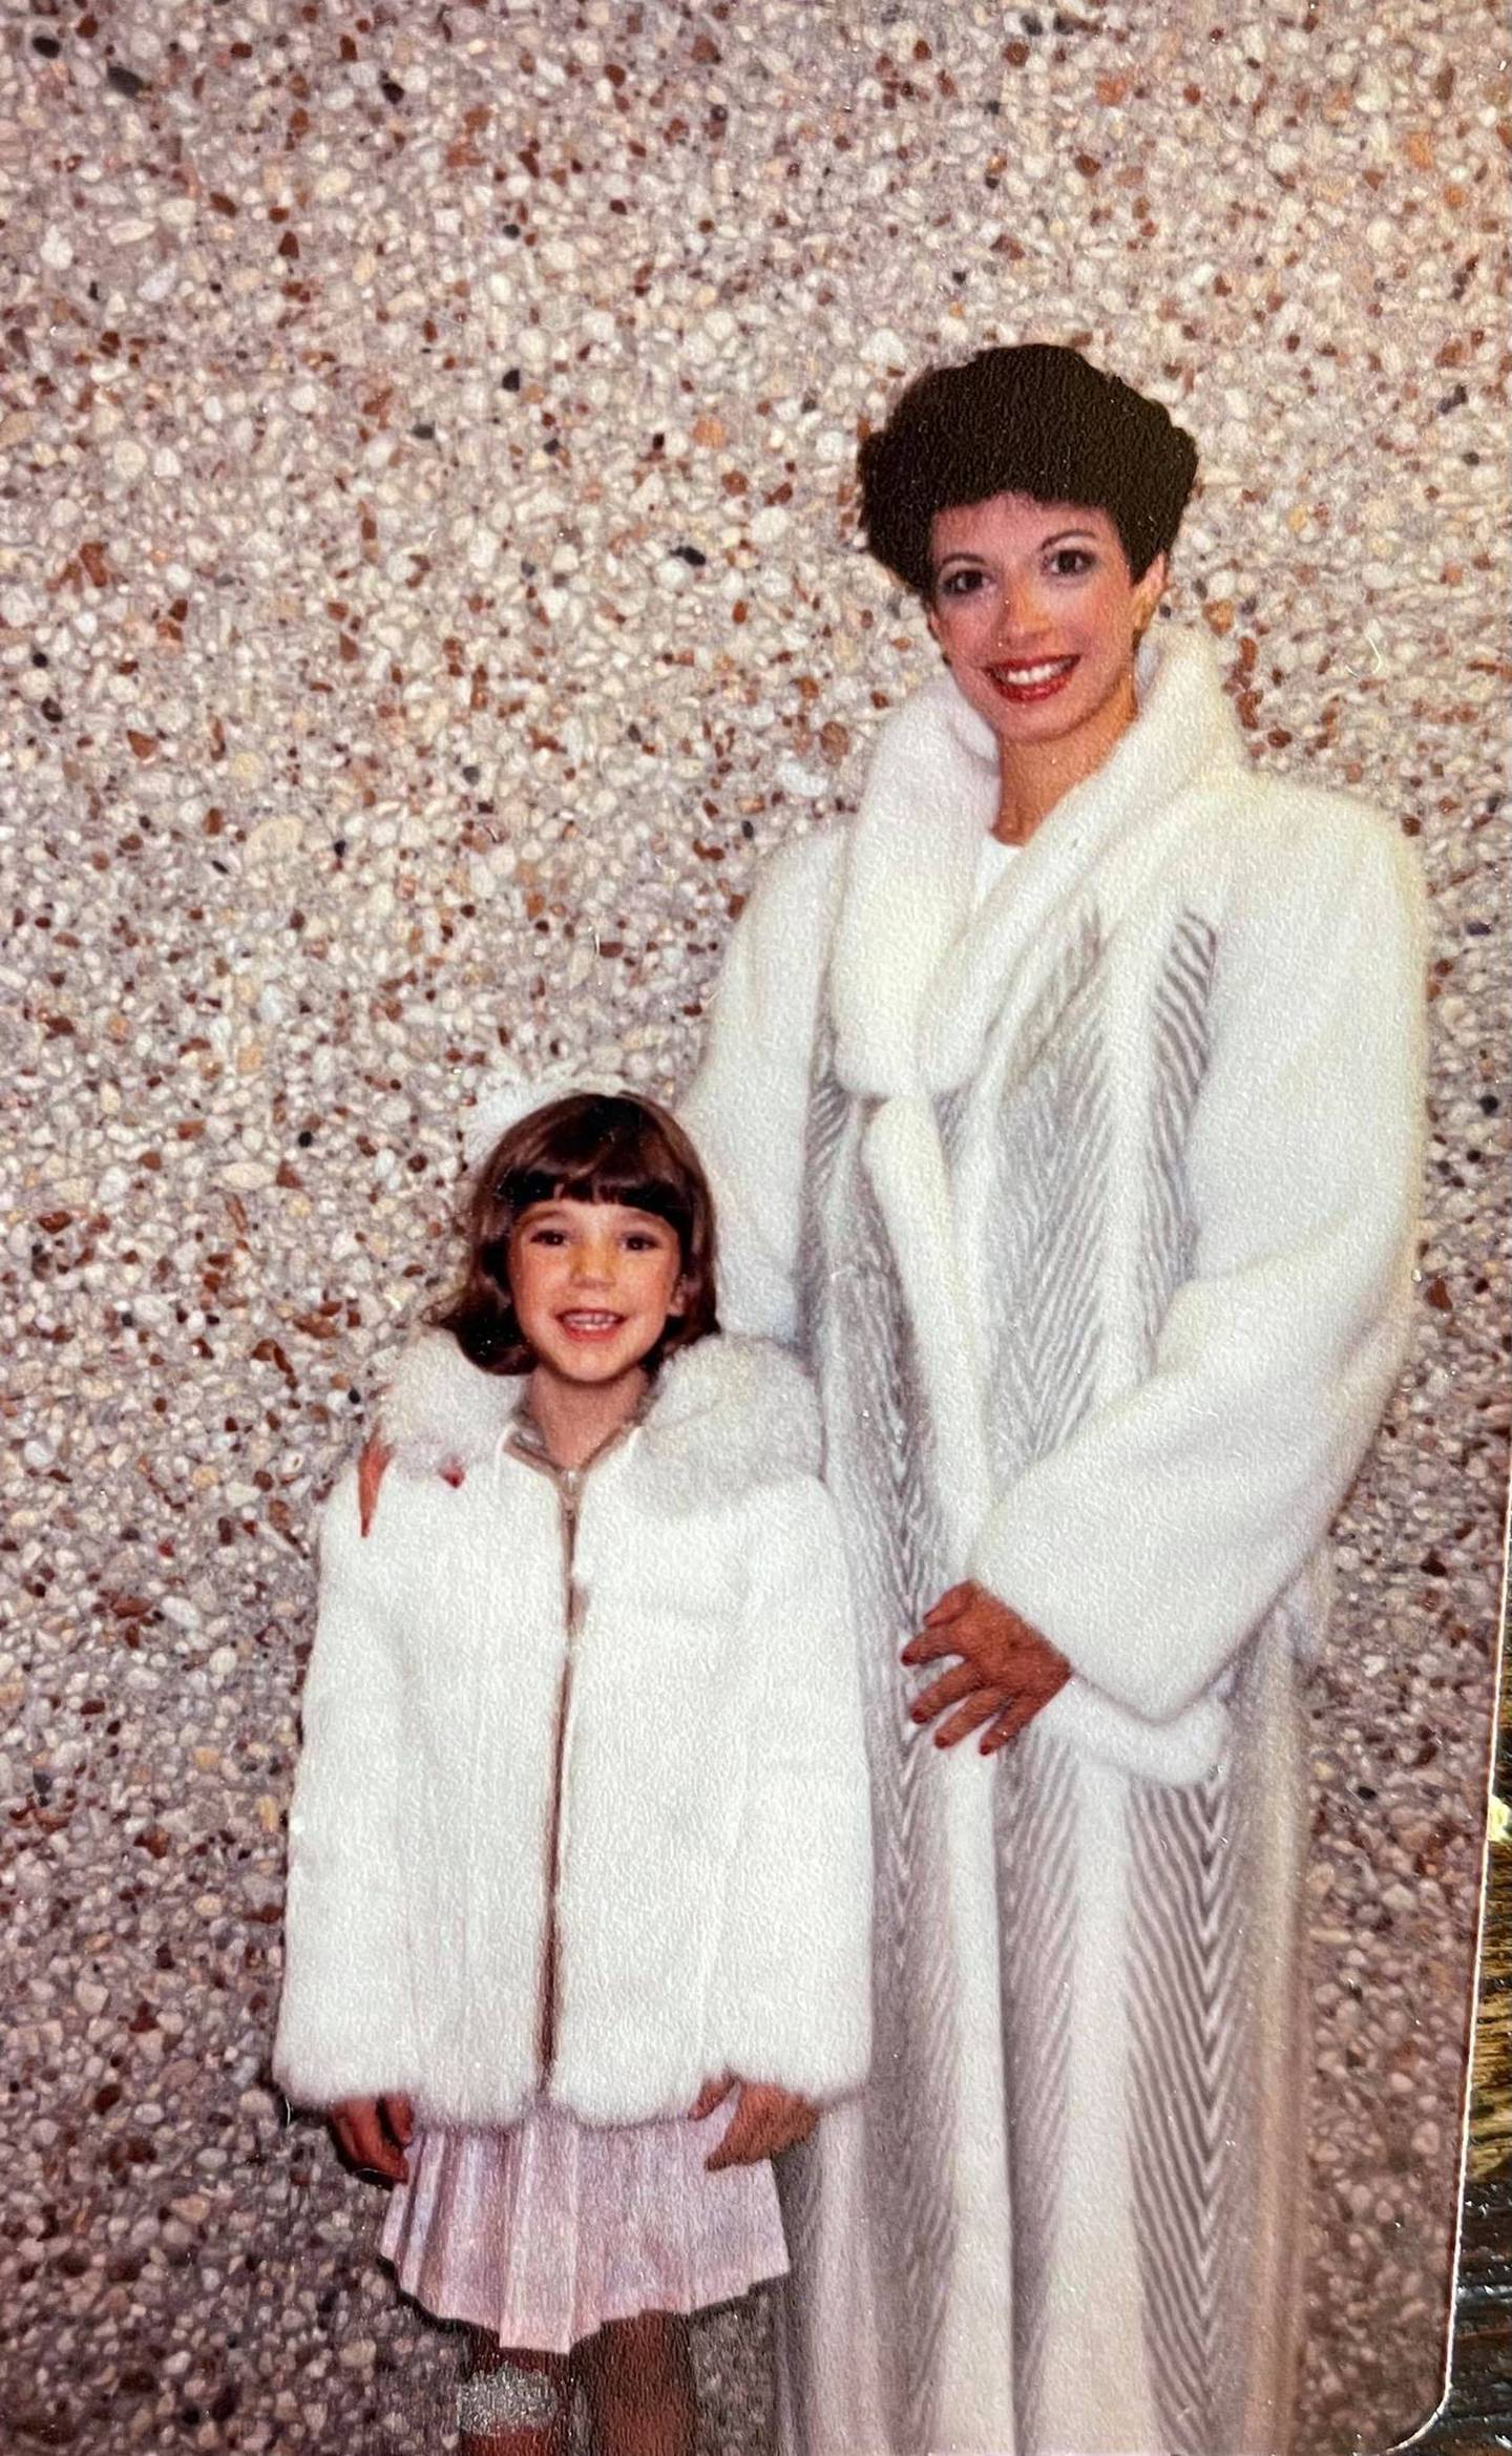
[[[871,2053],[871,1832],[842,1535],[812,1479],[768,1496],[744,1655],[751,1744],[709,2043],[724,2070],[825,2102]]]

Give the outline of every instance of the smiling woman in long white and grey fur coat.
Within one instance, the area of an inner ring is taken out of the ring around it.
[[[866,540],[947,670],[768,865],[685,1110],[864,1619],[876,2056],[788,2161],[803,2456],[1289,2444],[1296,1690],[1404,1343],[1419,889],[1247,764],[1200,634],[1141,646],[1193,469],[1075,351],[903,393]]]

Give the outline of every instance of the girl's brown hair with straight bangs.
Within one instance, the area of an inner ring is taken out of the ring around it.
[[[508,1240],[535,1203],[623,1203],[677,1230],[682,1312],[646,1358],[655,1370],[677,1348],[719,1329],[714,1199],[692,1142],[655,1100],[567,1093],[501,1135],[474,1174],[464,1213],[466,1277],[434,1321],[484,1373],[528,1373],[508,1289]]]

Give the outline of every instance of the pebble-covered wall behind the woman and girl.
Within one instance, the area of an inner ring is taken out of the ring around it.
[[[265,2061],[309,1518],[501,1051],[677,1086],[930,668],[906,371],[1203,447],[1171,607],[1433,892],[1421,1336],[1316,1675],[1311,2456],[1436,2402],[1502,1508],[1512,81],[1478,0],[12,0],[0,1695],[15,2449],[444,2444]],[[761,2306],[700,2336],[761,2449]]]

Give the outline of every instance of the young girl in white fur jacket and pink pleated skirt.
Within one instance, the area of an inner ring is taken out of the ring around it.
[[[479,2331],[469,2456],[565,2456],[574,2380],[606,2456],[690,2456],[682,2314],[783,2274],[768,2159],[866,2068],[859,1677],[687,1137],[530,1098],[324,1513],[275,2073]]]

